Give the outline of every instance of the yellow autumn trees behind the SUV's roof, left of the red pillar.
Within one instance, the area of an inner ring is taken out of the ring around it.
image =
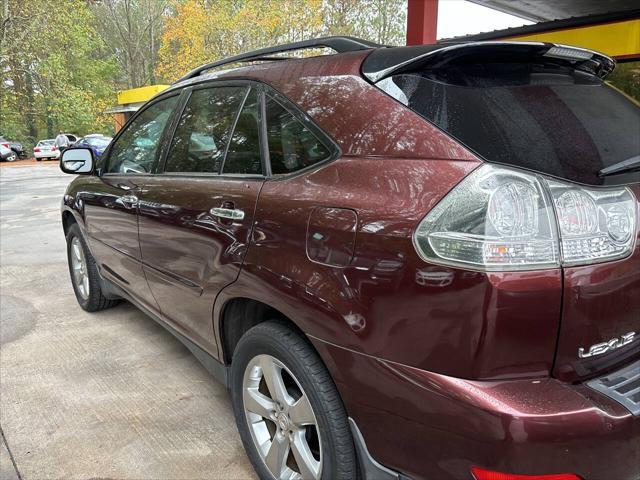
[[[215,59],[321,35],[403,43],[406,0],[185,0],[166,18],[156,72],[172,81]]]

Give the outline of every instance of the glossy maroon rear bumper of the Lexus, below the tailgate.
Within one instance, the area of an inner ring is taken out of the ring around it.
[[[312,339],[371,456],[414,479],[507,473],[640,478],[640,416],[586,385],[470,381]]]

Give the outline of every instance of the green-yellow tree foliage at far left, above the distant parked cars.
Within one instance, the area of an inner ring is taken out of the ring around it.
[[[115,62],[83,0],[3,0],[0,133],[33,146],[58,130],[109,133]]]

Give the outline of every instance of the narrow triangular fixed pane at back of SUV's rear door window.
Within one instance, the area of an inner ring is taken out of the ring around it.
[[[222,169],[224,173],[262,173],[258,105],[258,94],[252,89],[233,129]]]

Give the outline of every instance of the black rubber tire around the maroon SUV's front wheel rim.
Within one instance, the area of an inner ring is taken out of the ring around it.
[[[76,285],[76,281],[74,279],[71,256],[73,255],[72,244],[75,238],[77,238],[80,242],[82,252],[84,253],[86,273],[89,283],[89,294],[86,298],[80,293],[79,287],[78,285]],[[82,307],[83,310],[86,310],[87,312],[97,312],[99,310],[111,308],[119,303],[119,300],[108,299],[102,294],[98,267],[96,266],[95,260],[91,256],[91,252],[89,251],[89,248],[84,241],[82,233],[80,232],[80,227],[77,223],[71,225],[71,227],[69,227],[69,231],[67,232],[67,263],[69,265],[69,275],[71,276],[71,285],[73,286],[73,291],[76,294],[78,304]]]

